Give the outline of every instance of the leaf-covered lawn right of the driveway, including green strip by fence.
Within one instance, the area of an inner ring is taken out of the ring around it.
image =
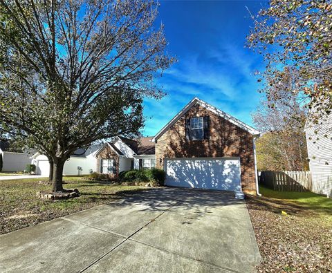
[[[247,199],[263,258],[258,271],[329,272],[332,200],[311,192],[259,191],[261,197]]]

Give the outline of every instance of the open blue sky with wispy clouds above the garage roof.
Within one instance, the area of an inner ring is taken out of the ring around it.
[[[244,48],[253,26],[248,10],[256,13],[264,1],[160,1],[169,53],[178,62],[165,71],[158,84],[167,93],[162,100],[146,99],[143,135],[155,135],[199,97],[252,125],[261,95],[255,70],[262,70],[261,56]]]

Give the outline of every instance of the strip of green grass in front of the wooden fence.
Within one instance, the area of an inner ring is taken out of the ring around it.
[[[332,199],[313,192],[274,191],[259,186],[259,193],[266,198],[279,200],[279,203],[294,204],[297,207],[332,215]]]

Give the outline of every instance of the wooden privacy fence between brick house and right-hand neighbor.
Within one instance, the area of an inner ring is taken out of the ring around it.
[[[275,191],[311,191],[310,171],[261,171],[259,183]]]

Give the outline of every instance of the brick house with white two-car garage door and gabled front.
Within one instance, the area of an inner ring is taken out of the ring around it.
[[[154,138],[117,138],[105,144],[98,152],[98,164],[102,164],[98,169],[116,175],[127,169],[157,167],[166,171],[169,186],[255,195],[258,137],[251,126],[194,98]]]

